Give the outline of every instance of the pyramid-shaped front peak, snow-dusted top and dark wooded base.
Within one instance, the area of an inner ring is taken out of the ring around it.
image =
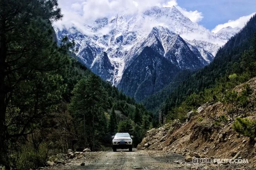
[[[135,45],[128,54],[131,56],[127,55],[127,66],[117,87],[136,101],[164,88],[181,70],[198,69],[208,64],[195,47],[163,27],[154,27],[147,39]],[[148,75],[154,74],[157,74],[155,80],[149,83]]]

